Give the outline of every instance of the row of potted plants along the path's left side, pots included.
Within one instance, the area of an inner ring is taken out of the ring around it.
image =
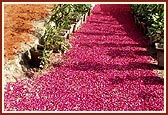
[[[69,35],[86,21],[90,10],[90,4],[54,5],[44,35],[40,38],[39,44],[29,51],[30,65],[46,68],[52,53],[65,53],[71,47],[68,42]]]

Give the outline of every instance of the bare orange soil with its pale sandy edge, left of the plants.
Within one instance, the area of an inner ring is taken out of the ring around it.
[[[20,63],[21,53],[38,43],[37,31],[44,31],[44,21],[52,7],[52,4],[4,4],[4,84],[26,78],[27,66]]]

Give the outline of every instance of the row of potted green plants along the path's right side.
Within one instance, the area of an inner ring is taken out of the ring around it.
[[[164,4],[131,4],[132,14],[150,44],[157,51],[158,65],[164,66]]]

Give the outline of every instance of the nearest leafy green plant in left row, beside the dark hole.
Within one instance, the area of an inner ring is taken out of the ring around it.
[[[58,36],[51,26],[47,26],[45,30],[42,45],[44,49],[42,50],[42,56],[39,57],[42,59],[40,68],[48,67],[52,53],[65,53],[71,46],[65,38]]]

